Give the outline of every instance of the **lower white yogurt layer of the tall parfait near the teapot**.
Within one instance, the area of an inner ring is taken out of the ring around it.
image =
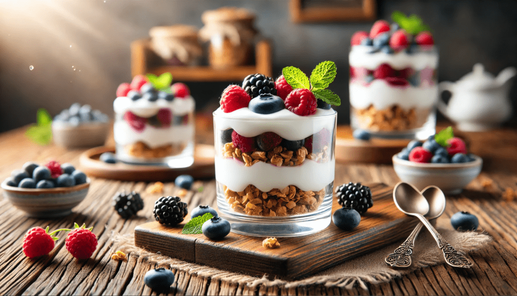
[[[398,88],[382,79],[376,79],[368,85],[351,83],[349,91],[350,105],[356,109],[365,109],[370,105],[377,110],[393,105],[399,105],[404,109],[430,108],[438,99],[437,85]]]

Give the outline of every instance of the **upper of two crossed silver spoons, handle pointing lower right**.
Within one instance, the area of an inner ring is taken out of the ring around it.
[[[406,215],[417,217],[420,219],[420,222],[427,227],[429,232],[433,235],[434,240],[438,243],[438,247],[442,250],[447,264],[459,268],[470,268],[472,266],[472,261],[446,242],[442,235],[440,235],[423,216],[430,211],[429,205],[433,206],[433,210],[431,211],[440,211],[440,209],[445,207],[445,196],[433,195],[433,199],[428,203],[425,197],[420,194],[415,187],[400,182],[393,190],[393,201],[400,211]]]

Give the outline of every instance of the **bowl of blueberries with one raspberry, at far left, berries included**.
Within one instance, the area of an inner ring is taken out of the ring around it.
[[[29,216],[49,218],[72,213],[88,194],[90,181],[70,164],[26,162],[2,182],[4,196]]]

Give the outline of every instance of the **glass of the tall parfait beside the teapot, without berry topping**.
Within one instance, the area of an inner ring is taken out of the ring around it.
[[[350,112],[353,129],[373,137],[427,139],[436,127],[438,52],[410,46],[400,52],[353,46]]]

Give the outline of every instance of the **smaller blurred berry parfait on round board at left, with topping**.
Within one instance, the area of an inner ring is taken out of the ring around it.
[[[193,164],[195,102],[185,84],[156,87],[135,76],[119,86],[113,109],[118,159],[171,168]]]

